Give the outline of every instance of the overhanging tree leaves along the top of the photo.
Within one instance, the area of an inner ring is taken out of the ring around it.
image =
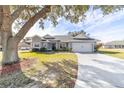
[[[17,10],[21,6],[11,6],[11,10]],[[20,14],[19,18],[15,21],[15,27],[20,29],[29,18],[38,13],[44,6],[41,5],[28,5],[24,11]],[[60,18],[64,18],[71,23],[78,23],[84,21],[86,18],[86,13],[89,9],[95,11],[100,9],[103,15],[108,15],[110,13],[118,12],[123,9],[122,5],[52,5],[51,11],[47,14],[47,17],[40,18],[39,27],[44,28],[45,20],[49,20],[53,26],[58,24]],[[92,12],[91,11],[91,12]]]

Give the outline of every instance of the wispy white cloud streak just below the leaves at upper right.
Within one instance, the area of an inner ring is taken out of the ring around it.
[[[86,30],[95,29],[95,27],[101,26],[103,24],[111,24],[113,21],[117,21],[124,16],[124,12],[120,11],[114,14],[102,16],[102,14],[97,14],[95,12],[94,17],[88,17],[85,25],[91,24]]]

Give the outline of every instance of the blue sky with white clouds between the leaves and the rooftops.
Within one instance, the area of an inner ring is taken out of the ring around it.
[[[49,21],[45,21],[45,29],[39,28],[38,22],[30,29],[26,36],[33,35],[67,35],[68,32],[84,30],[90,37],[109,42],[114,40],[124,40],[124,11],[103,16],[100,10],[87,12],[84,22],[78,24],[70,23],[64,18],[59,19],[56,27]]]

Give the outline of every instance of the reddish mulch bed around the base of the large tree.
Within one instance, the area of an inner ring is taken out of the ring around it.
[[[6,66],[0,66],[0,75],[5,75],[9,73],[13,73],[15,71],[29,68],[34,62],[36,62],[36,59],[23,59],[22,61],[12,64],[12,65],[6,65]]]

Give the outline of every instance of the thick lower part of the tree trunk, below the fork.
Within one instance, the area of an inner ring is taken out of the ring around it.
[[[9,37],[8,32],[4,32],[2,37],[2,65],[18,62],[18,43],[13,37]]]

